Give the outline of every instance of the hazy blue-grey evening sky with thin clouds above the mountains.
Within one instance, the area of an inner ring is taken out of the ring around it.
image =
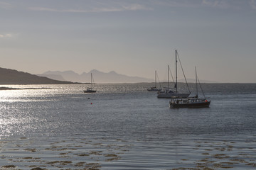
[[[0,67],[256,83],[256,0],[0,0]],[[181,77],[178,69],[178,77]]]

